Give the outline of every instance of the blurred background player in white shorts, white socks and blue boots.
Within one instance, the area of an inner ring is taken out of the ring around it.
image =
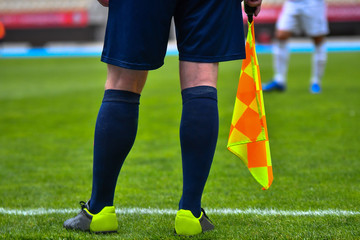
[[[273,47],[274,77],[270,82],[264,84],[263,91],[284,91],[286,89],[289,64],[288,39],[292,34],[300,32],[311,37],[315,45],[310,92],[321,92],[321,78],[327,59],[324,40],[329,33],[324,0],[287,0],[284,3],[276,23]]]

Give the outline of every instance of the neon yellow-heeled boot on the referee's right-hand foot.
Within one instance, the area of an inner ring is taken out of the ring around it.
[[[180,209],[175,217],[175,233],[177,235],[191,236],[211,231],[214,225],[201,209],[200,217],[196,218],[190,210]]]

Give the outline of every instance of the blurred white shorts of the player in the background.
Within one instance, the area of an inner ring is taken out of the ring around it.
[[[304,32],[311,37],[329,33],[324,0],[287,0],[276,28],[293,33]]]

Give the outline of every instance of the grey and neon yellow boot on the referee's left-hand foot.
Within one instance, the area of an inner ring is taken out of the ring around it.
[[[80,202],[81,211],[76,217],[64,222],[64,228],[90,231],[94,233],[117,232],[118,221],[116,218],[115,207],[104,207],[99,213],[92,214],[89,211],[89,202]]]

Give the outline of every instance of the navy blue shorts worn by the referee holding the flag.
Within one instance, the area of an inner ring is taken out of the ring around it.
[[[172,17],[179,60],[245,57],[241,0],[110,0],[101,60],[135,70],[161,67]]]

